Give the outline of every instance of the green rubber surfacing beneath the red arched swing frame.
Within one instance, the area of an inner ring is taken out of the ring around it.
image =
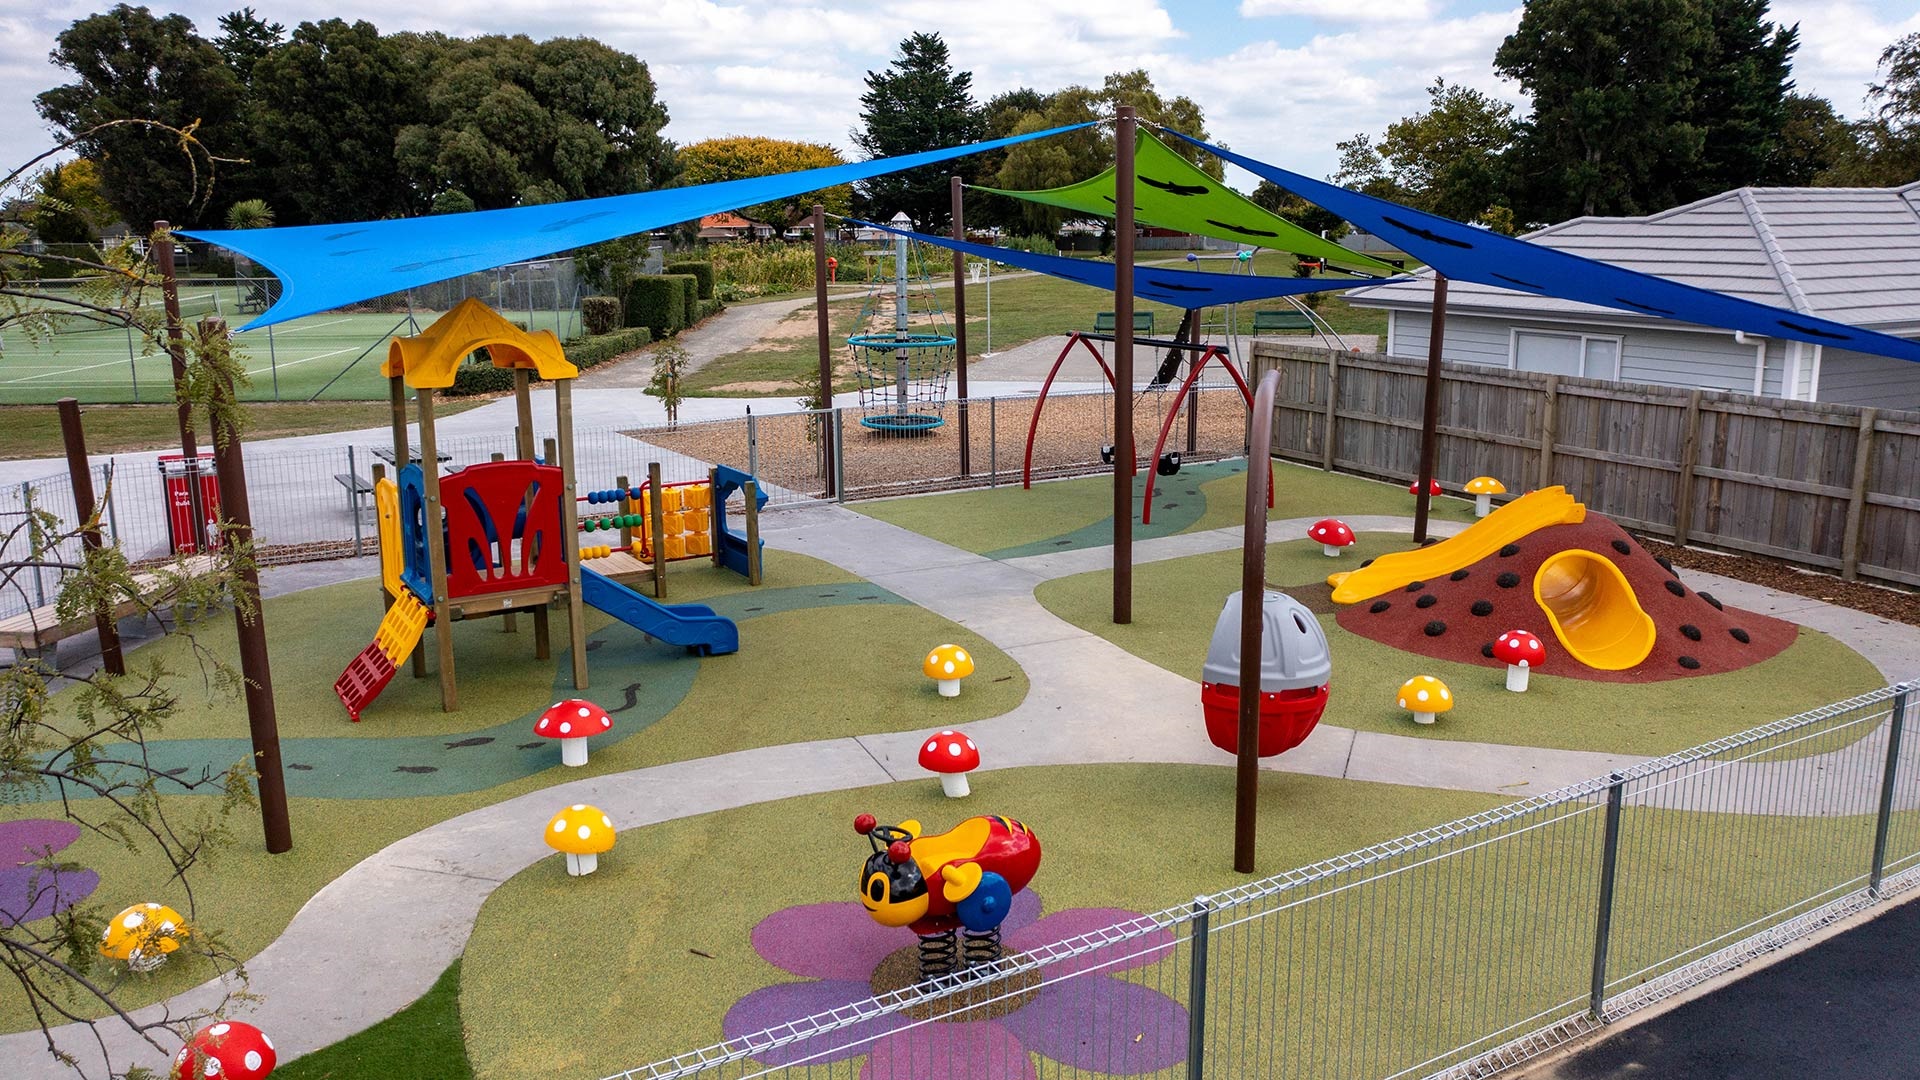
[[[1198,513],[1185,492],[1198,480],[1204,509]],[[1135,494],[1144,477],[1135,480]],[[1154,484],[1154,525],[1135,521],[1137,540],[1171,532],[1227,528],[1246,521],[1244,461],[1188,465],[1177,477]],[[1169,503],[1177,503],[1169,507]],[[1440,498],[1432,502],[1442,521],[1473,521],[1473,503]],[[852,509],[899,525],[943,544],[993,557],[1035,555],[1064,548],[1112,542],[1114,480],[1081,477],[1050,480],[1033,488],[1002,486],[941,496],[908,496],[856,503]],[[1413,496],[1398,484],[1325,473],[1290,461],[1273,463],[1273,509],[1269,519],[1348,517],[1386,513],[1413,517]],[[1062,544],[1062,540],[1066,540]]]

